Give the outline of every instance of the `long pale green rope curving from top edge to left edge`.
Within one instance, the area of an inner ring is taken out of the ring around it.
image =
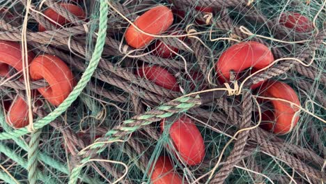
[[[105,6],[101,6],[100,8],[100,27],[98,31],[98,39],[96,41],[95,49],[91,58],[91,61],[89,62],[88,67],[86,68],[84,74],[81,76],[81,79],[79,80],[77,86],[72,90],[72,92],[68,95],[68,98],[66,98],[59,107],[54,109],[53,112],[45,116],[44,118],[36,121],[34,123],[34,128],[40,129],[43,128],[45,125],[49,124],[51,121],[54,121],[55,118],[60,116],[65,110],[70,107],[72,102],[74,102],[77,97],[80,95],[81,91],[85,88],[86,84],[91,79],[93,72],[98,67],[98,62],[100,61],[100,56],[102,55],[104,43],[105,43],[105,37],[107,36],[107,13],[108,8],[106,1],[101,0],[101,4],[105,4]],[[26,135],[29,133],[29,130],[27,128],[20,128],[17,130],[13,130],[10,132],[2,132],[0,133],[0,140],[3,139],[13,139],[13,137],[20,137],[22,135]]]

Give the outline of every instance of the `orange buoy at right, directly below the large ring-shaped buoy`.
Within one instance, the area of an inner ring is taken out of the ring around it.
[[[269,98],[281,98],[300,105],[299,98],[297,98],[297,93],[283,82],[266,82],[261,87],[261,92],[258,92],[259,95]],[[264,100],[263,100],[264,101]],[[265,123],[267,130],[272,130],[275,134],[284,135],[290,132],[297,121],[299,121],[299,116],[296,116],[291,122],[295,113],[299,110],[297,107],[290,105],[288,102],[282,102],[280,100],[267,100],[272,103],[274,109],[272,112],[263,112],[262,120],[270,121],[271,119],[275,120],[274,124]]]

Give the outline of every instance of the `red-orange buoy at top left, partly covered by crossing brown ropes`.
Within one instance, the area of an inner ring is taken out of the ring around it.
[[[76,17],[78,17],[81,20],[84,20],[86,17],[83,8],[81,8],[77,5],[74,5],[72,3],[60,3],[60,6],[62,6],[63,8],[65,8],[66,10],[68,10],[70,13],[72,13],[73,15],[75,15]],[[61,26],[64,26],[65,24],[69,23],[69,21],[66,20],[65,17],[59,15],[51,8],[47,8],[47,10],[45,10],[43,14],[46,15],[50,20],[57,22]],[[54,24],[54,23],[51,22],[51,24]],[[54,25],[56,25],[56,24],[54,24]],[[56,28],[59,28],[59,26],[56,25]],[[44,26],[42,26],[41,24],[38,24],[38,31],[42,32],[42,31],[47,31],[47,30],[45,29]]]

